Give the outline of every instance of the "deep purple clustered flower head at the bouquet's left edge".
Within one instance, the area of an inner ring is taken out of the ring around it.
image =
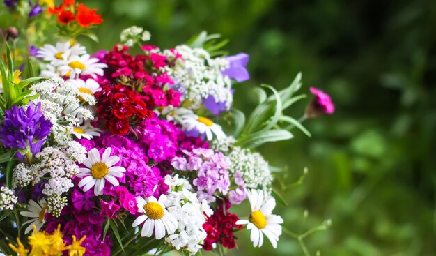
[[[20,160],[26,158],[26,163],[31,163],[52,128],[52,123],[42,115],[41,103],[34,105],[30,102],[26,110],[24,107],[13,106],[6,110],[4,117],[0,128],[0,142],[6,148],[17,149],[15,156]]]

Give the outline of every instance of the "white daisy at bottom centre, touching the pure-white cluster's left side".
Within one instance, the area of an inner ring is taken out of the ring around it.
[[[139,213],[143,215],[134,220],[132,227],[137,227],[144,223],[141,230],[141,236],[150,237],[155,232],[156,239],[162,239],[166,232],[173,234],[177,229],[177,220],[169,213],[164,206],[166,195],[160,195],[159,200],[156,197],[137,198]]]

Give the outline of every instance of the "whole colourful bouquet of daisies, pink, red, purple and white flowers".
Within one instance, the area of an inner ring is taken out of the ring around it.
[[[246,118],[232,103],[249,55],[225,56],[217,35],[162,50],[130,27],[90,54],[76,38],[95,39],[97,10],[75,0],[4,4],[26,22],[2,33],[0,251],[222,254],[238,229],[255,247],[277,246],[275,173],[256,148],[291,139],[293,128],[310,135],[304,119],[334,112],[327,94],[311,88],[302,119],[283,114],[305,98],[298,74],[281,91],[256,88]],[[246,218],[232,213],[244,201]]]

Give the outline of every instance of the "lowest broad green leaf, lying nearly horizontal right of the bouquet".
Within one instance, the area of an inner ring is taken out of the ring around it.
[[[290,140],[292,138],[292,133],[287,130],[260,130],[257,133],[242,137],[235,144],[237,146],[254,149],[266,142],[279,142],[281,140]]]

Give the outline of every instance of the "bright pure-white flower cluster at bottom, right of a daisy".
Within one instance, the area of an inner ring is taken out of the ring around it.
[[[207,236],[203,229],[206,216],[212,214],[209,205],[203,199],[199,202],[196,193],[186,179],[178,175],[165,176],[165,183],[170,187],[164,203],[166,209],[178,222],[174,234],[165,237],[165,242],[171,244],[176,250],[185,250],[189,255],[194,255],[201,249],[201,244]]]

